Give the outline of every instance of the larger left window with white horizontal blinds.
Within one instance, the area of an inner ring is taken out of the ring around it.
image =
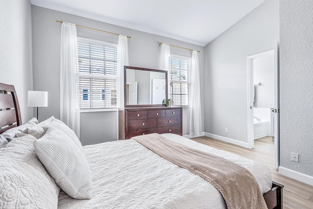
[[[77,37],[80,109],[116,107],[117,44]]]

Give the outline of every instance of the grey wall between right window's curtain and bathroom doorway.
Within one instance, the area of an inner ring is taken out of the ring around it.
[[[246,59],[277,40],[279,1],[266,0],[205,46],[205,132],[247,142]]]

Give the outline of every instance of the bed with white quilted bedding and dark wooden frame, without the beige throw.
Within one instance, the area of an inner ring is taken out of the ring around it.
[[[71,135],[72,132],[68,131],[62,122],[53,117],[40,124],[32,119],[33,121],[27,122],[30,123],[27,127],[25,127],[27,123],[23,126],[14,86],[0,84],[0,88],[2,89],[0,91],[2,92],[0,94],[0,109],[2,110],[0,111],[0,133],[6,136],[5,134],[10,132],[8,130],[17,130],[14,134],[15,138],[0,147],[0,158],[7,159],[6,162],[1,160],[0,163],[0,187],[2,188],[0,208],[24,208],[33,205],[36,206],[35,208],[45,208],[45,204],[60,209],[227,208],[221,192],[211,183],[188,169],[165,160],[134,139],[83,147],[77,145],[80,148],[74,146],[80,155],[83,153],[80,161],[86,162],[84,165],[72,167],[67,163],[66,167],[71,167],[74,170],[79,166],[86,168],[86,164],[88,164],[89,173],[84,175],[90,175],[92,185],[88,190],[90,193],[88,193],[89,197],[87,198],[78,196],[78,199],[75,199],[69,196],[71,191],[65,192],[67,186],[59,183],[60,179],[54,177],[54,173],[50,172],[49,163],[46,163],[46,159],[42,158],[42,150],[38,147],[42,143],[43,147],[41,148],[44,149],[46,144],[51,141],[56,141],[58,144],[63,143],[66,140],[60,140],[61,135],[58,134],[61,132],[68,139],[75,136]],[[40,130],[36,130],[34,127],[40,127]],[[23,133],[25,130],[28,132]],[[245,167],[255,177],[267,207],[269,209],[282,208],[283,186],[271,181],[268,168],[254,161],[196,143],[179,135],[162,134],[162,137],[174,143],[221,156]],[[47,140],[43,141],[44,138]],[[69,140],[69,142],[71,145],[79,144],[75,140]],[[64,146],[66,147],[67,144]],[[26,149],[25,147],[29,148]],[[58,156],[66,156],[67,150],[69,149],[58,150]],[[26,162],[22,158],[26,158]],[[12,166],[13,164],[17,164],[18,169]],[[26,173],[29,170],[33,170],[33,172],[27,176]],[[14,183],[13,180],[17,175],[12,175],[12,172],[15,171],[20,172],[22,177],[17,178]],[[80,174],[80,171],[76,172]],[[75,176],[76,173],[72,173],[72,175]],[[80,181],[81,177],[78,176],[77,179]],[[28,185],[27,182],[31,182],[34,178],[36,181]],[[17,185],[16,182],[22,182],[22,186]],[[87,189],[90,185],[90,182],[85,183],[86,186],[82,189]],[[65,189],[60,189],[60,187]],[[37,190],[41,193],[38,194]],[[43,192],[44,190],[45,192]]]

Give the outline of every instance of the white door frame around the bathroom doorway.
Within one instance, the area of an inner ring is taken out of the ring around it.
[[[247,144],[248,148],[254,147],[253,125],[253,59],[274,55],[274,150],[275,167],[279,166],[279,44],[272,50],[261,52],[247,57]]]

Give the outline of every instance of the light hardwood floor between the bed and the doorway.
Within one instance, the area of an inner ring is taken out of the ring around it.
[[[313,187],[279,174],[278,169],[274,167],[274,142],[272,142],[271,137],[254,140],[253,149],[205,136],[191,140],[262,163],[270,169],[272,180],[284,185],[284,209],[313,209]]]

